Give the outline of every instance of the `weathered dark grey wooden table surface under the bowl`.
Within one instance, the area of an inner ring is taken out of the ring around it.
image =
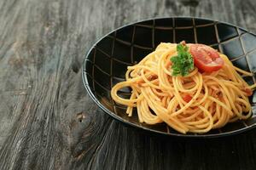
[[[222,139],[144,134],[104,114],[81,65],[125,24],[198,16],[256,32],[253,0],[1,0],[0,169],[256,169],[256,129]]]

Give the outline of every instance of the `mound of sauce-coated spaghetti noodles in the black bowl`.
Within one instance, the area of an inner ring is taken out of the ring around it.
[[[232,65],[224,55],[218,71],[202,72],[196,67],[189,75],[172,76],[170,58],[177,55],[177,44],[160,43],[137,65],[128,66],[125,82],[113,86],[111,96],[132,116],[137,108],[139,122],[154,125],[161,122],[179,133],[207,133],[228,122],[251,116],[248,95],[256,88],[241,76],[253,76]],[[130,99],[119,97],[121,88],[130,87]],[[186,97],[190,96],[190,99]]]

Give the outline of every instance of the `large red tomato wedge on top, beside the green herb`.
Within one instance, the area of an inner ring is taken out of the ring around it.
[[[190,53],[193,56],[195,66],[200,71],[218,71],[224,65],[224,60],[219,57],[218,52],[207,45],[191,44]]]

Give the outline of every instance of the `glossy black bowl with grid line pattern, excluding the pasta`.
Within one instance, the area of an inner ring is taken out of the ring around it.
[[[133,127],[152,133],[181,137],[219,137],[244,132],[256,127],[256,93],[250,97],[253,116],[246,121],[229,123],[209,133],[181,134],[165,123],[150,126],[138,122],[137,114],[129,117],[125,106],[117,105],[110,96],[110,90],[117,82],[125,80],[128,65],[134,65],[154,51],[160,42],[198,42],[217,48],[230,57],[234,65],[245,71],[256,72],[256,35],[227,23],[199,18],[160,18],[143,20],[120,27],[96,42],[84,59],[84,87],[90,97],[103,111],[113,118]],[[246,77],[249,84],[256,77]],[[127,95],[130,90],[123,89]]]

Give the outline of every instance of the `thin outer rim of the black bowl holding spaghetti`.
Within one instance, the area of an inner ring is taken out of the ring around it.
[[[125,28],[126,26],[133,26],[136,25],[137,23],[140,22],[144,22],[144,21],[149,21],[149,20],[161,20],[161,19],[195,19],[195,20],[208,20],[208,21],[213,21],[216,23],[220,23],[220,24],[224,24],[224,25],[228,25],[228,26],[233,26],[236,28],[241,29],[242,31],[245,31],[247,33],[252,34],[253,36],[256,37],[256,34],[253,33],[252,31],[248,31],[245,28],[242,28],[241,26],[236,26],[234,24],[230,24],[228,22],[224,22],[224,21],[219,21],[219,20],[212,20],[209,18],[205,18],[205,17],[192,17],[192,16],[170,16],[170,17],[155,17],[155,18],[148,18],[145,20],[137,20],[134,22],[131,22],[129,24],[126,24],[125,26],[119,26],[118,28],[114,29],[113,31],[109,31],[107,34],[105,34],[104,36],[102,36],[101,38],[99,38],[93,45],[92,47],[88,50],[88,52],[85,54],[85,58],[83,61],[83,65],[82,65],[82,79],[83,79],[83,83],[84,83],[84,88],[87,91],[87,93],[89,94],[90,98],[96,103],[96,105],[98,105],[102,111],[104,111],[105,113],[107,113],[109,116],[112,116],[115,120],[125,123],[125,125],[131,126],[131,127],[135,127],[138,129],[142,129],[143,131],[147,131],[149,133],[154,133],[154,134],[162,134],[165,136],[173,136],[173,137],[182,137],[182,138],[193,138],[193,139],[208,139],[208,138],[219,138],[219,137],[226,137],[226,136],[231,136],[231,135],[235,135],[235,134],[239,134],[239,133],[244,133],[247,132],[251,129],[253,129],[253,127],[256,127],[256,123],[247,127],[242,127],[240,129],[236,129],[232,132],[225,132],[225,133],[202,133],[202,134],[183,134],[183,133],[164,133],[164,132],[160,132],[148,127],[143,127],[137,124],[134,124],[132,122],[129,122],[123,118],[121,118],[120,116],[117,116],[116,114],[113,113],[113,111],[109,111],[108,108],[106,108],[104,105],[102,105],[102,103],[96,99],[96,95],[93,94],[92,90],[90,89],[89,86],[89,82],[88,82],[88,78],[87,78],[87,74],[85,73],[86,71],[86,62],[87,59],[89,57],[90,52],[93,50],[93,48],[96,47],[96,44],[98,42],[101,42],[103,38],[108,37],[108,35],[110,35],[111,33],[118,31],[119,29]]]

